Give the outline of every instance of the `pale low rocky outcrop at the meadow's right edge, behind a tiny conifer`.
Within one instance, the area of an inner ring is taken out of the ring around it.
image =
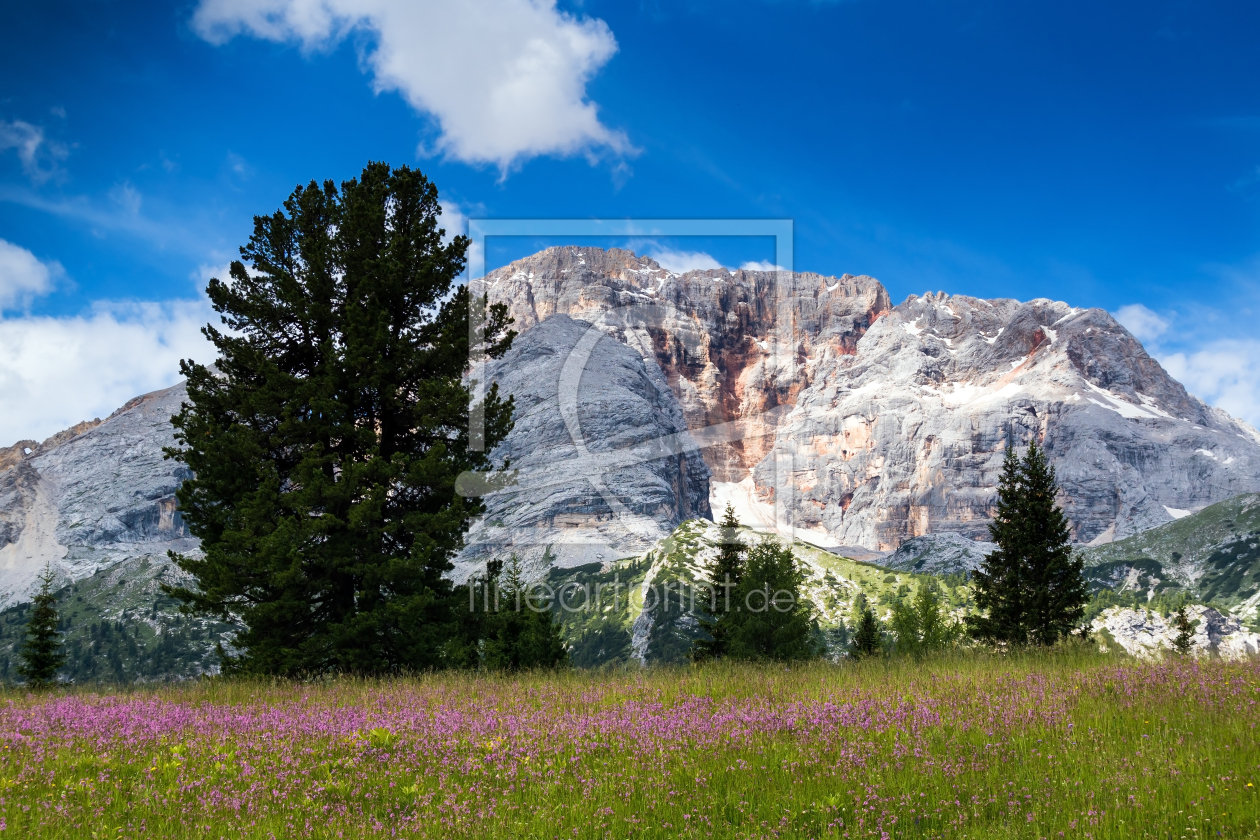
[[[1234,616],[1223,616],[1212,607],[1193,604],[1186,613],[1194,625],[1191,655],[1245,659],[1260,654],[1260,633],[1247,631]],[[1111,641],[1130,656],[1159,659],[1173,651],[1177,628],[1172,617],[1149,610],[1111,607],[1090,625],[1101,637],[1102,646]]]

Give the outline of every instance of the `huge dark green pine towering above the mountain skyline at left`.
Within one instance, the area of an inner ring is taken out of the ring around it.
[[[170,592],[243,622],[229,670],[444,664],[457,626],[444,572],[481,511],[455,480],[491,467],[512,404],[490,388],[470,440],[467,239],[444,243],[438,214],[406,166],[312,181],[255,217],[242,261],[207,288],[227,329],[204,329],[214,365],[180,365],[189,402],[168,452],[195,476],[179,506],[204,557],[175,555],[197,587]],[[501,355],[508,322],[491,307],[479,349]]]

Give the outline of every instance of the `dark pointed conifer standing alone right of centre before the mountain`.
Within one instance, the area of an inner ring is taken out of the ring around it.
[[[1084,559],[1068,544],[1057,492],[1055,468],[1036,441],[1022,461],[1007,447],[989,525],[998,549],[971,576],[975,604],[985,611],[966,620],[974,637],[1053,645],[1080,625],[1089,602]]]

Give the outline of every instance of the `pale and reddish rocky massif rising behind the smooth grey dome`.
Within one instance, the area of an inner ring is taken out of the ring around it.
[[[520,327],[568,314],[654,361],[704,447],[713,506],[822,547],[984,539],[1002,453],[1033,437],[1080,543],[1260,490],[1260,433],[1101,310],[939,292],[892,306],[869,277],[678,275],[577,247],[478,291]]]

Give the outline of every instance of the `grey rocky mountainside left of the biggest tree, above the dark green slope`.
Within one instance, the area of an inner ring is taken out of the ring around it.
[[[45,564],[64,583],[126,559],[168,563],[169,549],[197,549],[175,505],[188,472],[163,458],[185,394],[181,384],[145,394],[105,422],[3,452],[0,607],[25,601]]]

